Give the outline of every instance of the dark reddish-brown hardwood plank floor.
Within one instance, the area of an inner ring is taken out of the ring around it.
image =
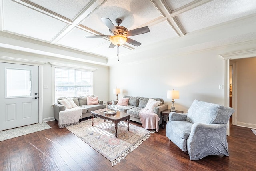
[[[229,157],[213,155],[197,161],[190,161],[188,153],[169,141],[160,128],[112,167],[66,128],[59,129],[57,121],[48,124],[51,129],[0,142],[0,171],[256,170],[256,135],[249,128],[230,126]]]

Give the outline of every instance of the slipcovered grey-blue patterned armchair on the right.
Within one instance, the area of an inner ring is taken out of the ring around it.
[[[166,124],[166,137],[190,160],[208,155],[228,156],[227,123],[234,109],[194,100],[187,114],[171,112]]]

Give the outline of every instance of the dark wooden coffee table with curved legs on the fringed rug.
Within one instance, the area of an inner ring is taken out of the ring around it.
[[[116,137],[117,137],[117,124],[120,121],[127,120],[127,131],[129,131],[129,123],[130,123],[130,115],[129,114],[126,114],[123,111],[117,111],[116,115],[104,115],[104,110],[105,109],[99,109],[99,110],[91,111],[91,113],[92,113],[92,126],[93,126],[94,116],[97,116],[101,119],[104,119],[104,121],[106,121],[106,120],[111,121],[112,123],[115,124]]]

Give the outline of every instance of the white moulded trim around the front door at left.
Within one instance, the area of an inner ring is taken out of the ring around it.
[[[0,56],[0,62],[38,66],[38,122],[43,122],[43,65],[46,62]]]

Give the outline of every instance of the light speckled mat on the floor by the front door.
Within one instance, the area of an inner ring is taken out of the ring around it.
[[[51,127],[47,123],[36,123],[33,125],[0,131],[0,141],[20,137],[22,135],[42,131],[49,128]]]

